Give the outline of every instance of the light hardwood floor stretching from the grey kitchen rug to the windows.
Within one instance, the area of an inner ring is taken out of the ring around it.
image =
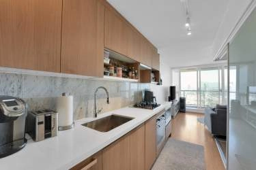
[[[205,129],[204,125],[197,122],[197,118],[202,117],[203,114],[186,112],[179,113],[172,120],[173,139],[196,143],[204,147],[205,152],[205,166],[207,170],[224,170],[225,167],[218,152],[218,148],[214,138],[210,132]]]

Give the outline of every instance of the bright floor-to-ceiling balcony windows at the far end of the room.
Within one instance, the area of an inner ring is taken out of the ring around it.
[[[232,99],[236,99],[236,67],[229,76]],[[227,104],[227,67],[208,67],[180,70],[180,95],[190,107]]]

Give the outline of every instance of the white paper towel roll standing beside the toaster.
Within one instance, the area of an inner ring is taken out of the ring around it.
[[[59,113],[58,123],[59,127],[71,126],[73,124],[73,97],[63,96],[57,98],[56,110]]]

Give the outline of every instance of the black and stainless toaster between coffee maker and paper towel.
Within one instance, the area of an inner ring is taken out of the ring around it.
[[[26,132],[34,141],[42,141],[57,136],[58,114],[51,109],[29,112],[26,121]]]

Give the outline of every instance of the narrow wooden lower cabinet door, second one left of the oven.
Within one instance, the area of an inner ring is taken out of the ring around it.
[[[145,169],[145,124],[130,135],[130,169]]]

